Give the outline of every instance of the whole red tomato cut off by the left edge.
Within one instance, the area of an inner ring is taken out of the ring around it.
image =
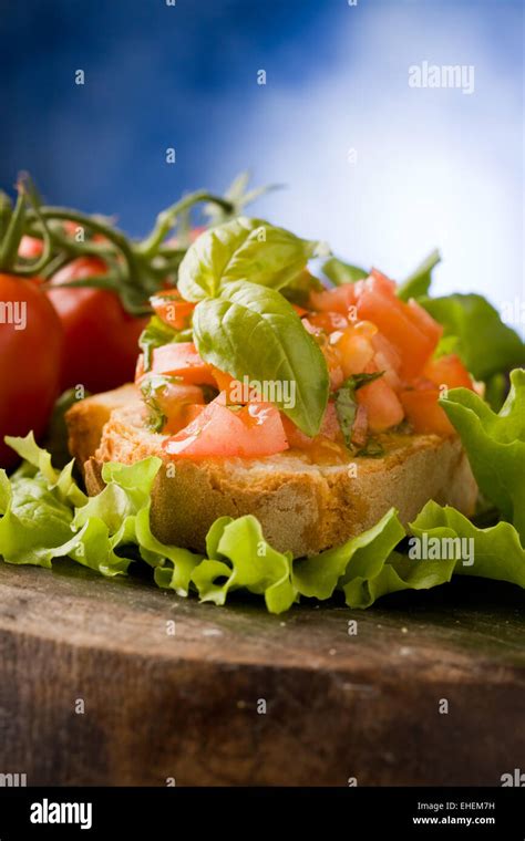
[[[0,274],[2,304],[25,303],[25,328],[0,323],[0,466],[18,456],[4,435],[39,437],[45,429],[60,391],[63,331],[47,297],[31,280]]]

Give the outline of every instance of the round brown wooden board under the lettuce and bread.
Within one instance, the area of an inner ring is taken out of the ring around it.
[[[1,563],[0,771],[30,786],[500,785],[524,767],[524,652],[523,593],[494,582],[270,616],[66,562]]]

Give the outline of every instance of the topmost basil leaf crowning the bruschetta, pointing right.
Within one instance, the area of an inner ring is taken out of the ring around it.
[[[227,283],[243,279],[281,289],[322,250],[320,242],[239,216],[195,240],[178,269],[178,290],[186,301],[202,301],[216,298]]]

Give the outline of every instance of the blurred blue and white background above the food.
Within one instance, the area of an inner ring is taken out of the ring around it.
[[[258,184],[288,185],[257,215],[349,260],[402,277],[437,246],[435,291],[500,308],[523,295],[519,0],[0,11],[3,187],[29,169],[49,201],[115,214],[138,236],[183,191],[220,191],[250,167]],[[474,92],[410,87],[423,61],[474,65]]]

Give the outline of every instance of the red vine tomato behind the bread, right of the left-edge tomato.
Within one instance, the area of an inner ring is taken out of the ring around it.
[[[62,388],[83,385],[90,392],[104,392],[133,380],[138,338],[147,318],[127,313],[119,297],[107,290],[58,288],[105,273],[106,266],[99,258],[80,257],[52,278],[48,298],[65,336]]]

